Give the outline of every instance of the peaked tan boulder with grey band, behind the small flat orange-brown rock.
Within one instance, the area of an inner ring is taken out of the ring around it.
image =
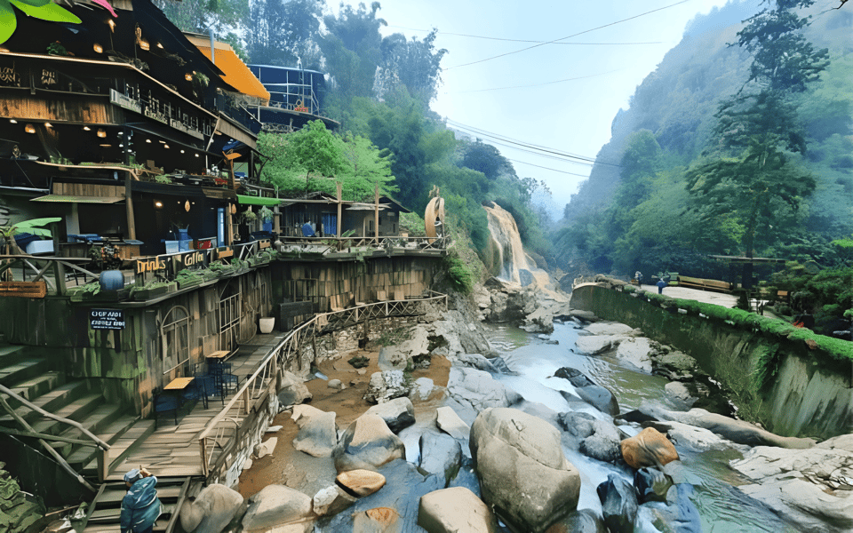
[[[364,414],[347,427],[331,457],[339,473],[359,469],[375,471],[396,458],[406,458],[406,447],[400,437],[388,429],[385,420]]]

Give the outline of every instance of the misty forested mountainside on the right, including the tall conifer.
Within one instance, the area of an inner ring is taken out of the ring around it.
[[[853,233],[853,12],[812,4],[731,2],[693,21],[566,206],[563,268],[721,275],[707,254],[840,264],[832,241]]]

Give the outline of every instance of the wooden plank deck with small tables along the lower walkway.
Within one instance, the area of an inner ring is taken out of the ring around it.
[[[231,373],[243,383],[284,335],[277,331],[256,335],[241,345],[227,360],[233,365]],[[227,396],[225,403],[230,398]],[[198,436],[222,407],[223,402],[219,401],[219,397],[211,397],[207,409],[204,409],[201,401],[195,402],[195,405],[187,403],[179,412],[177,426],[171,416],[161,416],[156,429],[154,420],[149,420],[150,427],[140,429],[136,435],[127,435],[110,449],[111,460],[119,460],[112,465],[107,481],[122,481],[125,472],[139,468],[140,465],[158,478],[203,475]]]

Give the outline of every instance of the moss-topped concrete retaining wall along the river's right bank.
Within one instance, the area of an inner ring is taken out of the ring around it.
[[[736,403],[749,402],[742,407],[753,410],[769,431],[822,438],[853,432],[853,361],[840,354],[787,335],[685,314],[677,306],[662,308],[641,293],[602,285],[576,287],[571,306],[639,328],[690,354],[733,392]],[[765,386],[756,383],[760,368],[770,370]]]

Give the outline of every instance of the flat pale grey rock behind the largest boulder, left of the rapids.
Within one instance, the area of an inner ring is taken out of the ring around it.
[[[474,422],[477,413],[490,407],[509,407],[522,396],[496,381],[489,372],[466,368],[450,368],[445,405],[456,411],[466,424]]]

